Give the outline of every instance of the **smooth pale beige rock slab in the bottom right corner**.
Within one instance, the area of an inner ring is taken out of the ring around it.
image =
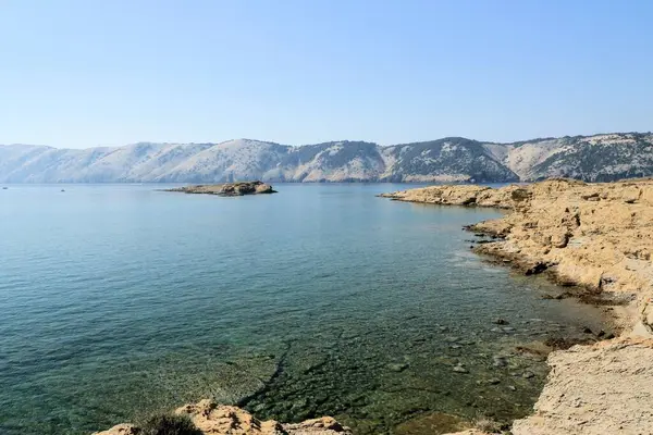
[[[653,433],[653,340],[575,346],[549,357],[549,382],[534,414],[514,435]]]

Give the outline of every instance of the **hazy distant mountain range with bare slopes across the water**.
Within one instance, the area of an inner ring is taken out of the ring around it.
[[[446,137],[382,147],[333,141],[292,147],[238,139],[87,149],[0,146],[0,183],[604,182],[653,175],[653,134],[565,136],[513,144]]]

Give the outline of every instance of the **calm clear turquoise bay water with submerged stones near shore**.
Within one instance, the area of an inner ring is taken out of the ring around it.
[[[407,187],[387,184],[162,187],[0,190],[0,433],[84,434],[204,397],[361,434],[508,421],[546,375],[515,346],[602,326],[469,252],[460,227],[497,211],[375,198]]]

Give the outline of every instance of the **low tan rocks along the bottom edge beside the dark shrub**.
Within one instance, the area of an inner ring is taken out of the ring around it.
[[[175,414],[188,415],[205,435],[352,435],[331,417],[282,424],[274,420],[260,421],[249,412],[205,399],[176,409]],[[140,430],[131,424],[119,424],[95,435],[137,435]]]

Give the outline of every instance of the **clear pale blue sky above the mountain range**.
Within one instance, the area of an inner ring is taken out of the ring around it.
[[[0,144],[653,129],[653,1],[0,0]]]

